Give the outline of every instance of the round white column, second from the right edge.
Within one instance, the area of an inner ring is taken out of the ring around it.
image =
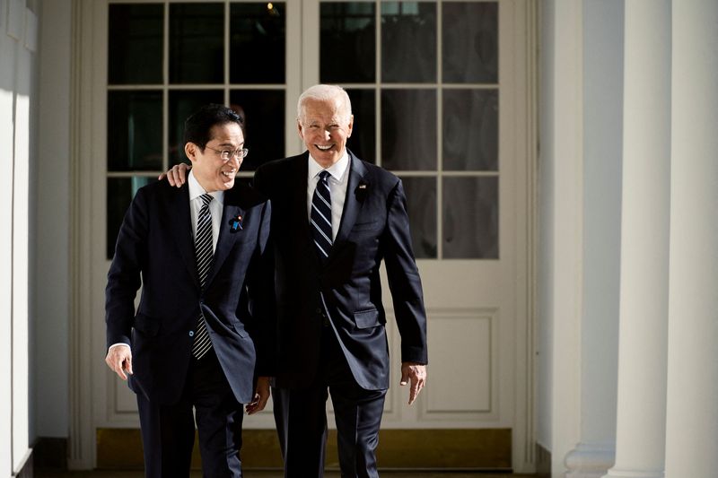
[[[668,343],[670,0],[631,0],[625,12],[617,440],[616,464],[606,476],[661,478]]]

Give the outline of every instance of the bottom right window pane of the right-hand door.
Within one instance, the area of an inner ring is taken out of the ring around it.
[[[443,178],[446,259],[499,257],[499,178]]]

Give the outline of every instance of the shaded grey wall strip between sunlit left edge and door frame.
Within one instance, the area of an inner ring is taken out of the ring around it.
[[[42,4],[35,212],[35,433],[69,430],[70,48],[72,2]],[[101,319],[101,317],[98,317]],[[98,357],[101,352],[98,352]]]

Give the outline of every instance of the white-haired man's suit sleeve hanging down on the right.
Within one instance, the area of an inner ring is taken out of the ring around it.
[[[398,180],[387,197],[384,261],[401,335],[401,361],[426,364],[426,312],[421,278],[411,246],[407,200]]]

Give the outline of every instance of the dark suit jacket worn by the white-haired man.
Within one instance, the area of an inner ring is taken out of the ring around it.
[[[306,385],[318,369],[328,319],[356,382],[389,387],[389,345],[379,267],[386,264],[401,335],[401,361],[426,363],[426,317],[401,181],[349,152],[346,202],[334,246],[322,265],[307,216],[309,153],[272,161],[255,187],[272,202],[276,260],[276,385]]]

